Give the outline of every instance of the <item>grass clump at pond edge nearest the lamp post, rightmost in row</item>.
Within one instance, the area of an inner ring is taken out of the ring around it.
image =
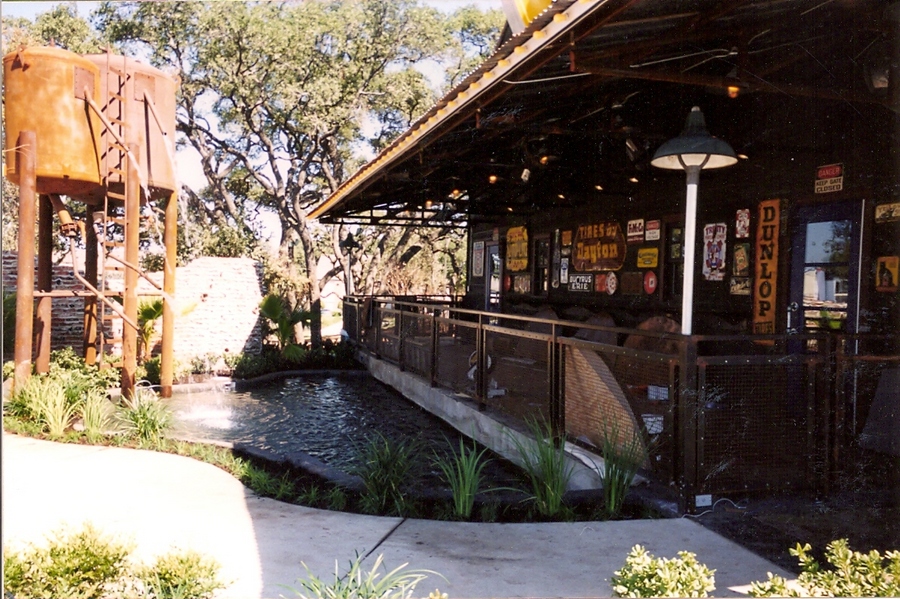
[[[615,518],[622,510],[638,469],[647,459],[647,452],[637,431],[632,429],[629,438],[627,433],[621,434],[619,423],[614,422],[604,426],[601,453],[604,511],[607,518]]]

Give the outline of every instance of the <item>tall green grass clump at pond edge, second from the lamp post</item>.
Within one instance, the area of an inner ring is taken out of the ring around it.
[[[531,442],[522,441],[511,433],[509,438],[531,481],[532,500],[538,513],[555,517],[565,511],[564,497],[573,469],[566,460],[565,444],[556,442],[549,425],[531,420],[528,428]]]

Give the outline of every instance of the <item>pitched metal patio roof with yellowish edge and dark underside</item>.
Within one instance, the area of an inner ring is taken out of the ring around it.
[[[557,0],[310,216],[447,226],[539,210],[523,179],[589,185],[580,175],[626,172],[604,144],[632,160],[645,155],[671,137],[665,106],[685,88],[884,106],[887,6]],[[542,170],[554,163],[568,168]]]

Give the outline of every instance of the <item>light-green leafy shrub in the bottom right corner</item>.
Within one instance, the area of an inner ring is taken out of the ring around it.
[[[790,550],[802,572],[796,582],[769,573],[765,582],[754,582],[751,597],[900,597],[900,551],[851,551],[847,539],[837,539],[825,549],[832,566],[823,569],[809,553],[809,544]]]

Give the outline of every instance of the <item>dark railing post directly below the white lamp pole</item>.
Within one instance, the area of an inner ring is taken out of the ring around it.
[[[697,376],[697,344],[685,336],[681,347],[681,380],[678,393],[678,420],[681,428],[681,472],[679,474],[679,509],[692,513],[696,508],[697,473],[697,410],[700,389]]]

